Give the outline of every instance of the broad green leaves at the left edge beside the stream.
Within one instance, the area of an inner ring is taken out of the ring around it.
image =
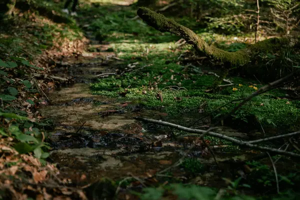
[[[19,90],[26,91],[27,95],[37,92],[36,89],[33,89],[31,81],[26,79],[30,68],[42,69],[30,64],[22,57],[11,56],[5,61],[0,59],[0,101],[2,104],[0,107],[0,134],[4,137],[14,138],[13,147],[19,153],[33,152],[35,157],[41,158],[42,161],[42,158],[49,155],[47,152],[49,146],[42,141],[43,133],[37,126],[44,124],[27,118],[25,111],[11,107],[18,97]],[[19,74],[17,75],[19,78],[17,80],[11,78],[11,74]],[[31,99],[27,99],[27,103],[35,104]]]

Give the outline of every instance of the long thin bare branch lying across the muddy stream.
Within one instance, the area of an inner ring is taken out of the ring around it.
[[[178,130],[183,130],[183,131],[186,131],[186,132],[193,132],[193,133],[198,133],[198,134],[202,134],[202,133],[206,132],[206,130],[192,129],[192,128],[184,127],[184,126],[181,126],[181,125],[177,125],[177,124],[174,124],[174,123],[169,123],[169,122],[161,121],[161,120],[143,118],[143,117],[140,117],[140,116],[137,116],[137,117],[134,117],[134,118],[136,120],[155,123],[155,124],[159,124],[159,125],[164,125],[164,126],[176,128]],[[237,144],[237,145],[248,146],[250,148],[258,149],[258,150],[261,150],[261,151],[269,151],[269,152],[273,152],[273,153],[280,154],[280,155],[288,155],[288,156],[291,156],[291,157],[300,157],[300,154],[297,154],[297,153],[288,152],[288,151],[280,150],[280,149],[276,149],[276,148],[270,148],[270,147],[266,147],[266,146],[258,146],[258,145],[255,145],[255,144],[251,144],[248,141],[242,141],[242,140],[234,139],[234,138],[226,136],[224,134],[220,134],[220,133],[216,133],[216,132],[212,132],[212,131],[208,131],[206,134],[210,135],[210,136],[213,136],[213,137],[220,138],[220,139],[225,139],[227,141],[231,141],[232,143]],[[290,136],[290,135],[288,135],[288,136]],[[267,138],[264,139],[264,141],[266,141],[266,140],[267,140]]]

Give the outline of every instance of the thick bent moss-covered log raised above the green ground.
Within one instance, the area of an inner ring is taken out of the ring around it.
[[[297,40],[292,38],[270,38],[255,44],[248,45],[246,48],[228,52],[207,44],[202,38],[194,33],[189,28],[180,25],[176,21],[166,18],[162,14],[156,13],[145,7],[140,7],[137,10],[139,17],[143,19],[148,25],[154,27],[161,32],[170,32],[181,36],[189,44],[191,44],[197,51],[204,52],[207,56],[213,57],[224,63],[230,63],[228,68],[234,65],[243,65],[251,60],[259,52],[272,52],[284,47],[292,47]],[[230,66],[231,65],[231,66]]]

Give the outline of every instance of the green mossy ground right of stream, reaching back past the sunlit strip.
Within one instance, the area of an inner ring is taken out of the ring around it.
[[[100,13],[104,8],[105,5],[102,4],[97,9]],[[130,8],[114,10],[110,7],[110,10],[105,16],[94,20],[88,28],[105,35],[103,41],[109,42],[116,55],[125,60],[118,68],[122,70],[132,65],[134,67],[131,72],[98,79],[92,83],[94,94],[119,97],[120,100],[134,99],[146,108],[161,109],[171,116],[180,117],[182,114],[212,112],[231,100],[246,97],[262,86],[255,79],[232,75],[228,77],[234,83],[232,86],[222,87],[215,93],[207,93],[205,90],[216,77],[205,74],[205,70],[219,74],[215,67],[211,68],[209,62],[196,66],[183,64],[182,58],[178,57],[191,53],[190,46],[178,47],[175,41],[179,38],[156,31],[140,20],[129,20],[135,16]],[[230,38],[216,34],[199,34],[204,40],[211,40],[211,37],[217,41]],[[246,46],[237,42],[222,43],[223,49],[228,51],[236,51]],[[258,129],[261,125],[282,131],[293,130],[293,124],[299,122],[298,101],[282,98],[284,95],[284,91],[273,89],[254,97],[231,116],[232,124],[238,126],[245,123]],[[228,113],[239,102],[240,100],[234,101],[212,112],[212,121]]]

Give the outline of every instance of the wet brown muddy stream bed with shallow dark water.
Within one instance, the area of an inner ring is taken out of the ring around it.
[[[144,109],[133,101],[91,94],[88,83],[94,80],[96,74],[115,72],[115,66],[121,62],[112,52],[105,51],[107,46],[97,47],[100,52],[86,52],[56,60],[60,68],[52,73],[67,74],[73,77],[75,83],[50,90],[47,96],[51,102],[39,109],[44,117],[51,118],[55,123],[47,142],[52,147],[49,159],[57,163],[59,177],[82,186],[103,177],[113,180],[128,175],[148,177],[174,164],[191,145],[193,138],[177,140],[171,129],[133,119],[138,115],[159,119],[168,117],[166,113]],[[183,117],[184,120],[193,118]],[[181,116],[172,120],[183,119]],[[227,133],[246,137],[235,130]],[[223,146],[226,145],[215,146],[220,148],[216,154],[218,161],[245,158],[236,152],[225,155],[222,153]],[[225,173],[230,170],[230,164],[219,170],[208,149],[201,143],[195,145],[187,156],[203,164],[201,173],[195,176],[194,172],[176,167],[172,178],[219,186],[222,181],[220,177],[228,175]],[[219,176],[219,173],[225,175]]]

